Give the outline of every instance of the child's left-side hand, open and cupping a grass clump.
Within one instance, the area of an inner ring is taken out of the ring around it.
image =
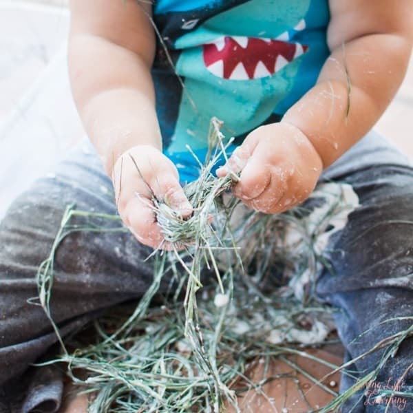
[[[175,165],[154,147],[138,145],[123,153],[115,163],[113,180],[120,218],[142,244],[157,248],[164,240],[151,192],[183,218],[192,213]]]

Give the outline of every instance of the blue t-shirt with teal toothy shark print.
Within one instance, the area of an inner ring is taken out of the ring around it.
[[[156,0],[153,64],[164,153],[198,177],[213,116],[235,144],[277,122],[317,81],[329,51],[328,0]]]

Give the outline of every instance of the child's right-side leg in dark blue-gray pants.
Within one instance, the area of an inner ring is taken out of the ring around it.
[[[413,168],[403,166],[403,160],[399,165],[385,165],[381,157],[385,159],[385,151],[377,156],[382,165],[330,174],[330,178],[351,184],[361,204],[350,214],[345,229],[330,240],[332,271],[325,271],[317,284],[319,295],[339,308],[336,321],[346,361],[413,326]],[[366,334],[361,335],[363,332]],[[359,359],[348,370],[364,377],[378,366],[385,351]],[[384,412],[389,396],[383,390],[412,393],[412,363],[410,336],[384,364],[377,379],[354,394],[342,411],[350,412],[357,405],[352,412]],[[355,382],[343,375],[341,390]],[[413,412],[413,399],[394,396],[387,412],[401,410]]]

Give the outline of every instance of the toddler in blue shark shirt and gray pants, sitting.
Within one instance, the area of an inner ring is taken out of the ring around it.
[[[1,412],[59,409],[61,372],[29,368],[53,354],[56,335],[28,299],[67,204],[117,210],[130,233],[75,233],[59,246],[51,310],[62,335],[145,292],[149,247],[167,247],[147,185],[191,215],[181,185],[198,164],[186,145],[204,159],[213,116],[235,137],[216,173],[239,174],[233,194],[248,207],[281,213],[326,180],[357,194],[360,207],[330,239],[330,271],[317,279],[320,299],[341,309],[346,360],[412,324],[396,317],[413,315],[413,169],[370,131],[405,74],[412,1],[72,0],[71,9],[72,91],[94,149],[36,182],[1,223]],[[412,350],[406,338],[377,386],[412,392]],[[356,377],[381,354],[355,362]],[[341,390],[354,380],[343,377]],[[361,390],[343,412],[385,406]],[[412,399],[403,409],[413,411]]]

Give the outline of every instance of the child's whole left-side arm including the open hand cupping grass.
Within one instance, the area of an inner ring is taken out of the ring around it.
[[[162,235],[140,173],[156,196],[182,215],[191,213],[191,205],[176,167],[161,151],[150,74],[155,52],[151,5],[72,0],[71,11],[69,66],[78,112],[114,180],[121,218],[138,240],[156,247]]]

